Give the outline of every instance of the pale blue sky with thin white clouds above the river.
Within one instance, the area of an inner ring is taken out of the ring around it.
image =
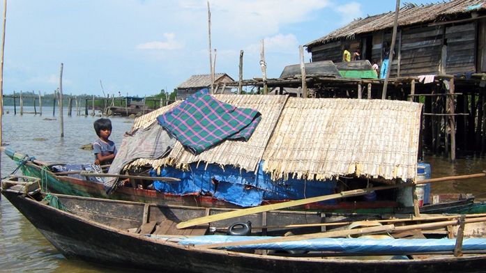
[[[408,1],[430,3],[428,1]],[[155,95],[209,73],[206,0],[7,0],[3,94]],[[299,63],[299,45],[352,20],[395,10],[377,0],[211,0],[215,72],[267,77]],[[3,1],[1,1],[3,14]],[[1,16],[1,15],[0,15]],[[214,55],[213,55],[214,59]],[[309,54],[305,55],[309,61]]]

